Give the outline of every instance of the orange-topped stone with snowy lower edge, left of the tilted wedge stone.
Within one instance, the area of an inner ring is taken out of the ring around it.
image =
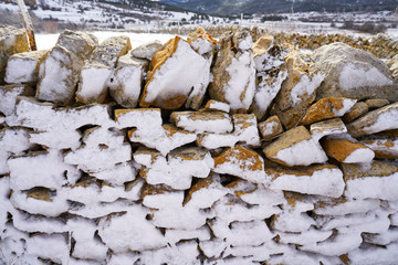
[[[268,184],[270,177],[264,172],[264,160],[255,151],[242,146],[226,148],[213,158],[217,173],[233,174],[254,183]]]

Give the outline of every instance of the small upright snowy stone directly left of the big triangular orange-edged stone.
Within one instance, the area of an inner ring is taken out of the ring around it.
[[[109,81],[109,93],[117,104],[126,108],[137,105],[147,62],[132,57],[129,54],[121,56]]]

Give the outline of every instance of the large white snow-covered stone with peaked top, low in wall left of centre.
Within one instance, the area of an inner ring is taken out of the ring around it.
[[[106,216],[100,221],[98,235],[107,247],[114,253],[123,253],[128,250],[156,250],[166,245],[160,231],[146,220],[148,210],[138,204],[126,209],[126,213]]]

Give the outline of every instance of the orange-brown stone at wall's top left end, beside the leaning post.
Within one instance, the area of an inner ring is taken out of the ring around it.
[[[0,85],[4,83],[6,66],[14,53],[29,52],[29,41],[24,29],[0,25]]]

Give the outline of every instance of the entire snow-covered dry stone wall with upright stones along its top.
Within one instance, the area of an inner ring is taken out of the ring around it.
[[[0,264],[398,259],[398,91],[371,54],[0,31]]]

